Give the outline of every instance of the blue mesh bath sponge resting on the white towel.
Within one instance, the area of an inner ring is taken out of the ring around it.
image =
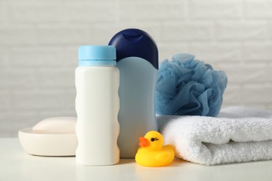
[[[227,86],[223,71],[176,54],[160,65],[156,86],[156,113],[160,115],[217,116]]]

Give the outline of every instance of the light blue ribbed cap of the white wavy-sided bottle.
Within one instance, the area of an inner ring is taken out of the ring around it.
[[[116,65],[116,48],[109,45],[84,45],[78,49],[78,65]]]

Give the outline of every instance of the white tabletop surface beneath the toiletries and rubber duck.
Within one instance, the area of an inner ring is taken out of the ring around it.
[[[17,138],[0,139],[0,145],[0,180],[272,180],[272,160],[204,166],[175,159],[169,166],[149,168],[121,159],[113,166],[79,166],[75,157],[28,155]]]

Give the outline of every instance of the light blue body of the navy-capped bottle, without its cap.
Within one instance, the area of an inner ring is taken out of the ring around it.
[[[134,158],[139,136],[157,130],[155,91],[158,70],[139,57],[117,62],[120,70],[120,134],[118,145],[122,158]]]

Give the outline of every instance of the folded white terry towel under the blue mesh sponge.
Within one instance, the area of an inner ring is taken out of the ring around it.
[[[214,165],[272,159],[272,111],[222,109],[218,117],[158,116],[165,144],[176,157]]]

